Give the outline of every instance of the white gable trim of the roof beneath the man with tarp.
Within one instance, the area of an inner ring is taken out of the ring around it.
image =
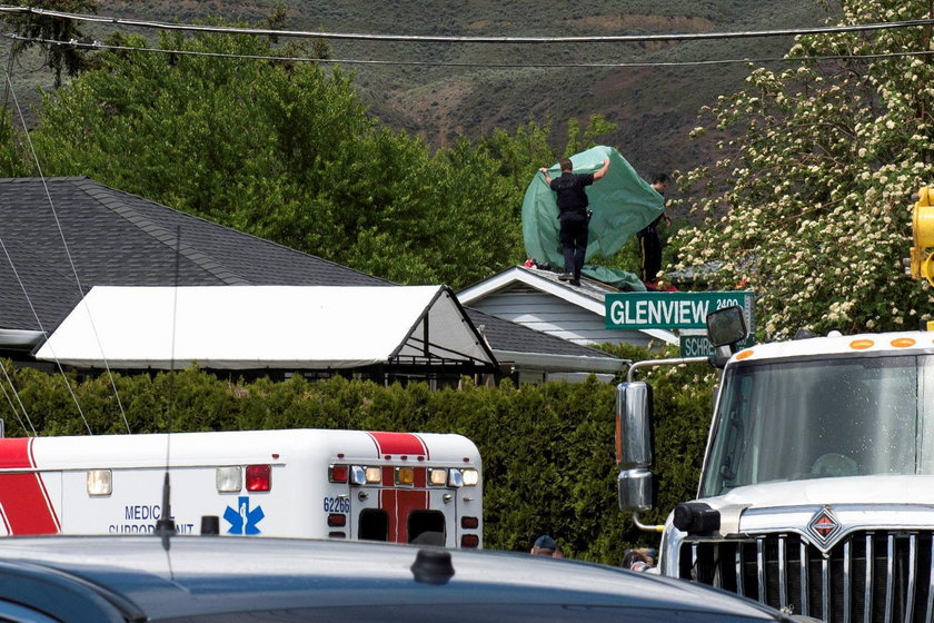
[[[517,283],[525,284],[526,286],[535,288],[541,293],[566,300],[567,303],[596,314],[600,318],[606,316],[606,307],[604,306],[604,298],[606,294],[619,291],[612,286],[588,279],[586,277],[582,277],[579,286],[572,286],[567,281],[558,280],[558,275],[556,273],[552,273],[550,270],[513,266],[497,275],[494,275],[493,277],[460,290],[457,293],[457,298],[463,305],[473,307],[478,300]],[[669,330],[637,330],[667,344],[679,343],[678,337]]]

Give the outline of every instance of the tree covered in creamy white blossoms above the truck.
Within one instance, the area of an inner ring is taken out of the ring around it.
[[[934,1],[835,12],[841,24],[931,19]],[[743,91],[703,109],[693,135],[719,159],[680,176],[697,225],[673,240],[675,268],[755,290],[775,338],[934,317],[930,286],[903,267],[912,196],[934,184],[931,52],[931,26],[801,36],[779,69],[752,68]]]

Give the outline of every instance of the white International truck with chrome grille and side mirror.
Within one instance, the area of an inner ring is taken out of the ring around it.
[[[664,526],[638,517],[655,492],[650,392],[633,374],[617,395],[619,504],[662,532],[662,574],[823,621],[934,620],[934,333],[734,353],[697,498]]]

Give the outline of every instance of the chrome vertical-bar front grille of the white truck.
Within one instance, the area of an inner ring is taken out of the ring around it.
[[[934,623],[930,532],[856,532],[826,554],[797,534],[688,541],[679,575],[824,621]]]

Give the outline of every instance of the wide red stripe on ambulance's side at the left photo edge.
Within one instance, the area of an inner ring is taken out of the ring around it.
[[[0,439],[0,469],[34,469],[33,441]],[[38,472],[0,474],[0,516],[10,535],[54,534],[61,530]]]

